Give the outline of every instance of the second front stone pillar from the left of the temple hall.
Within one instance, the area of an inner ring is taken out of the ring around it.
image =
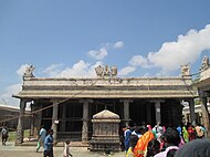
[[[53,138],[54,142],[57,140],[56,135],[57,135],[57,114],[59,114],[59,102],[60,100],[53,100],[53,115],[52,115],[52,129],[54,132]]]

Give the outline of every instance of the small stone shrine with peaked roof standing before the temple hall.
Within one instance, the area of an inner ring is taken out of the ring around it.
[[[119,116],[104,109],[93,116],[93,135],[90,142],[93,151],[119,151]]]

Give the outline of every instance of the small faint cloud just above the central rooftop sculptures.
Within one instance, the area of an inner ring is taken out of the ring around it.
[[[106,48],[101,48],[99,50],[91,50],[87,52],[87,54],[96,60],[103,60],[106,55],[108,55],[108,52]]]

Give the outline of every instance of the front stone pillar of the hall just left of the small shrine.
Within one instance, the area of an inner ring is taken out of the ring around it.
[[[82,142],[88,140],[88,103],[93,103],[91,100],[82,100],[83,103],[83,128],[82,128]]]

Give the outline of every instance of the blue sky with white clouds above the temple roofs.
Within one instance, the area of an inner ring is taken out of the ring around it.
[[[209,0],[0,0],[0,104],[36,77],[171,76],[210,56]]]

